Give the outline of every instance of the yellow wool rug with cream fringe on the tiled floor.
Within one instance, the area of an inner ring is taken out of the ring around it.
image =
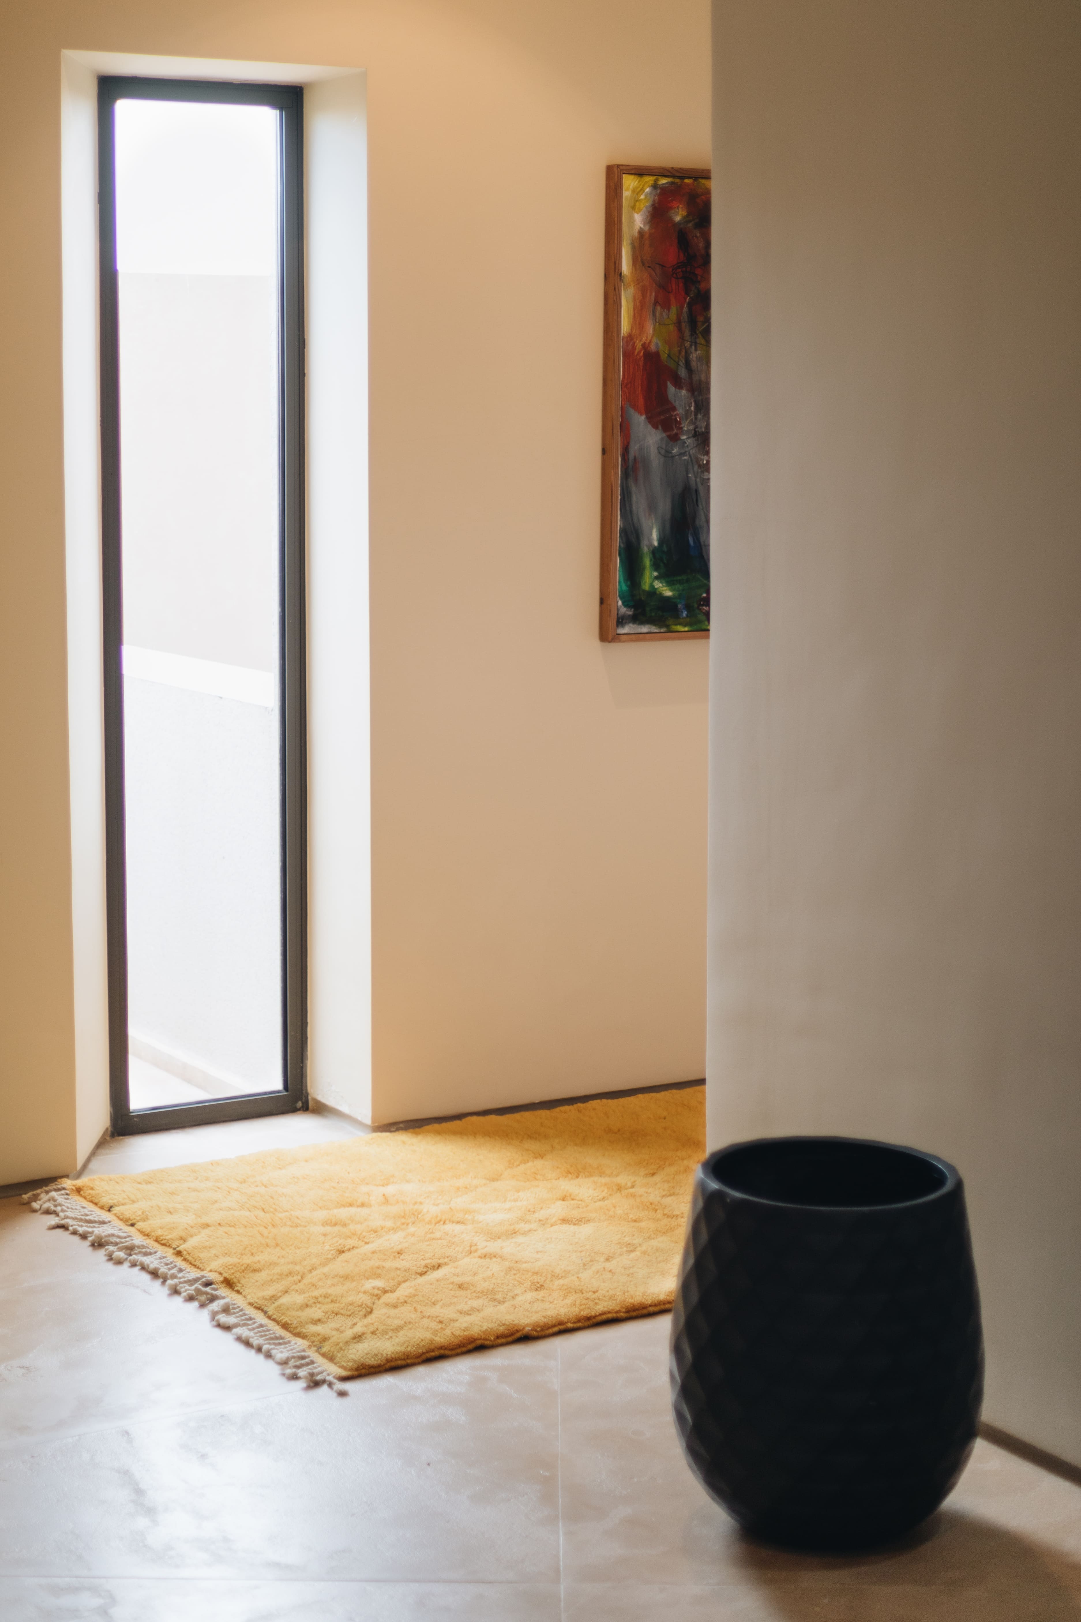
[[[31,1195],[310,1385],[673,1302],[703,1088]]]

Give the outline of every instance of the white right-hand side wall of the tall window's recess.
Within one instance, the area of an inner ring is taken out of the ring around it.
[[[368,81],[305,89],[308,1087],[371,1121]]]

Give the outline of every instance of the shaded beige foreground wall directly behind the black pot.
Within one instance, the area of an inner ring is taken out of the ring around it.
[[[966,1179],[1081,1463],[1081,10],[718,0],[710,1135]]]

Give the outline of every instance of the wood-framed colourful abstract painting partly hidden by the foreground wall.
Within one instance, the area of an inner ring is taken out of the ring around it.
[[[710,634],[710,170],[611,164],[603,642]]]

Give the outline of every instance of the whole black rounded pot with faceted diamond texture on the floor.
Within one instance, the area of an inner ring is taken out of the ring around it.
[[[917,1526],[964,1470],[984,1397],[956,1169],[844,1137],[710,1155],[671,1385],[687,1463],[752,1536],[843,1551]]]

